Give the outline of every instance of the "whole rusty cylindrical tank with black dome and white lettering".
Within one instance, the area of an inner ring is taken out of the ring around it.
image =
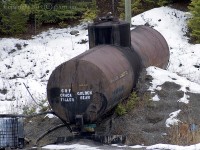
[[[147,26],[102,19],[88,26],[90,49],[52,72],[47,96],[55,114],[68,125],[83,126],[127,98],[144,67],[166,68],[169,48]]]

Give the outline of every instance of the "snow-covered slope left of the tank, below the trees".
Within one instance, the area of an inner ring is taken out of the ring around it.
[[[0,113],[22,112],[24,106],[45,100],[53,69],[88,49],[88,43],[78,44],[88,39],[85,28],[86,24],[50,29],[30,40],[0,39]],[[79,31],[78,36],[70,34],[74,30]]]

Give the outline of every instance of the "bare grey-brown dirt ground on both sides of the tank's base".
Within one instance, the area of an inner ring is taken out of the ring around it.
[[[96,133],[99,135],[123,135],[126,137],[126,145],[153,145],[157,143],[190,145],[200,142],[200,94],[187,93],[190,95],[190,103],[180,103],[183,97],[180,85],[173,82],[165,82],[162,89],[155,91],[160,101],[152,101],[148,96],[152,77],[141,74],[138,83],[138,95],[140,101],[137,106],[123,116],[111,113],[97,124]],[[166,127],[166,120],[171,112],[181,109],[178,115],[178,125]],[[67,127],[62,126],[62,121],[47,116],[26,119],[25,139],[26,147],[44,146],[57,143],[58,139],[72,137]],[[61,127],[60,127],[61,126]],[[55,130],[52,130],[55,127]],[[52,130],[52,131],[51,131]],[[47,133],[47,134],[45,134]]]

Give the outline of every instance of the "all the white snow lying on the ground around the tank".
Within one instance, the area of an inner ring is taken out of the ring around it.
[[[184,103],[189,103],[186,87],[189,87],[190,92],[200,93],[200,44],[188,43],[185,36],[188,16],[186,12],[160,7],[132,18],[133,25],[148,23],[158,30],[170,47],[170,63],[167,70],[156,67],[147,69],[148,74],[154,78],[149,90],[159,90],[159,85],[173,80],[180,84],[181,90],[185,92],[184,97],[179,100]],[[71,35],[70,31],[73,30],[78,30],[79,35]],[[87,34],[86,24],[81,24],[73,28],[50,29],[30,40],[0,39],[0,113],[22,112],[24,106],[31,107],[45,100],[49,75],[59,64],[88,49],[88,43],[80,44],[82,40],[88,40]],[[24,84],[36,102],[32,100]],[[159,98],[155,95],[152,100],[159,101]],[[169,114],[166,126],[179,121],[177,115],[180,111]],[[76,149],[76,146],[70,146],[58,149]],[[83,148],[91,149],[90,146]],[[146,148],[197,150],[200,149],[200,145],[183,147],[158,144]]]

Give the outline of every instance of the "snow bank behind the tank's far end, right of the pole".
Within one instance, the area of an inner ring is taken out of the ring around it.
[[[155,8],[132,18],[133,25],[148,23],[158,30],[170,47],[169,72],[200,84],[200,44],[189,44],[186,12],[169,7]]]

